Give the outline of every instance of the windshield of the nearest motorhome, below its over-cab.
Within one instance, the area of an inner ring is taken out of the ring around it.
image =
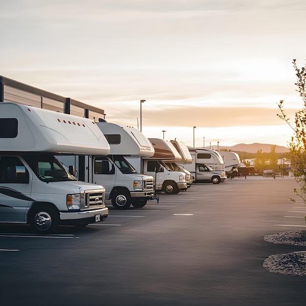
[[[52,155],[24,155],[23,158],[37,177],[44,182],[76,180]]]

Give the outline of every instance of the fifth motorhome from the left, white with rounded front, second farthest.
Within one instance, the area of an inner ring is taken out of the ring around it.
[[[193,162],[190,164],[179,164],[187,169],[195,183],[210,182],[219,184],[227,177],[224,171],[224,162],[218,152],[209,149],[188,148]]]

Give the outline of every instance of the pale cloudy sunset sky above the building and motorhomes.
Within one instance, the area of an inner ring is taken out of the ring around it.
[[[304,0],[10,0],[0,75],[105,109],[187,145],[286,146],[303,106]]]

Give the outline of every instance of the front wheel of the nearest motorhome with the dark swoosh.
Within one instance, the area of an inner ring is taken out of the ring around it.
[[[53,232],[59,224],[59,214],[53,207],[36,207],[31,213],[30,223],[39,233]]]

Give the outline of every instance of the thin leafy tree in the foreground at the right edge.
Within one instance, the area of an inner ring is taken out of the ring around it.
[[[289,151],[291,164],[295,164],[293,169],[294,178],[299,185],[299,189],[295,188],[294,192],[306,203],[306,66],[300,69],[296,65],[296,60],[293,60],[292,63],[297,77],[296,91],[302,98],[303,106],[302,109],[295,113],[294,123],[291,123],[285,114],[284,100],[281,100],[278,104],[281,114],[277,115],[293,130],[293,135],[289,142]]]

